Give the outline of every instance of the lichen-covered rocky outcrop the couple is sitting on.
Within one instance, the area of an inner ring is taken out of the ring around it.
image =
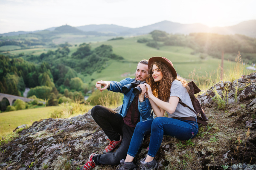
[[[235,97],[238,82],[237,102]],[[253,170],[256,167],[256,73],[231,82],[214,85],[222,95],[229,84],[229,104],[222,110],[212,107],[211,90],[198,97],[209,118],[198,135],[179,141],[164,136],[155,159],[158,170]],[[116,109],[118,111],[119,108]],[[20,130],[17,130],[17,132]],[[145,136],[134,162],[139,165],[149,146]],[[3,170],[79,170],[91,153],[102,153],[108,145],[106,135],[94,122],[90,111],[70,119],[43,119],[19,132],[11,142],[0,146],[0,169]],[[113,170],[116,166],[100,165],[95,170]]]

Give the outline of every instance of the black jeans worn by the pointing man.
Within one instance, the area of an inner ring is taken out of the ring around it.
[[[116,139],[119,136],[118,134],[122,135],[122,143],[116,152],[94,156],[93,161],[96,165],[120,164],[120,160],[126,158],[135,128],[125,125],[124,120],[119,113],[104,106],[94,106],[91,114],[95,122],[102,128],[110,140]]]

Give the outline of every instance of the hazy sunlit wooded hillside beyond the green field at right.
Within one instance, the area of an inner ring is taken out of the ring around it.
[[[191,54],[208,54],[221,58],[222,51],[230,54],[225,57],[234,61],[238,51],[243,54],[244,62],[256,63],[256,38],[245,35],[221,35],[212,33],[168,34],[165,31],[155,30],[150,33],[153,40],[142,38],[137,42],[146,43],[153,48],[163,45],[184,46],[194,49]],[[204,59],[204,55],[201,55]]]

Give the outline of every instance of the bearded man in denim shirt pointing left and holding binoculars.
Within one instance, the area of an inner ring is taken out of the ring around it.
[[[135,79],[145,81],[148,75],[148,60],[142,60],[137,65]],[[99,81],[96,82],[96,88],[99,91],[108,89],[109,91],[122,93],[122,87],[130,84],[135,79],[126,78],[120,82],[115,81]],[[103,88],[101,88],[103,86]],[[112,109],[97,105],[92,108],[92,116],[95,122],[102,128],[108,136],[110,143],[103,151],[102,155],[92,153],[86,164],[81,170],[91,170],[99,164],[120,164],[120,160],[125,159],[131,137],[138,122],[150,120],[153,118],[150,102],[144,97],[146,92],[145,85],[140,85],[142,93],[135,96],[133,88],[127,94],[124,94],[124,101],[120,113]],[[116,147],[119,148],[115,153],[111,151]]]

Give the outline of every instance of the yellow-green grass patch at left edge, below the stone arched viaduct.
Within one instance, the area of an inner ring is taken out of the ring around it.
[[[57,108],[59,106],[0,113],[0,136],[11,133],[17,126],[49,118],[49,112]]]

